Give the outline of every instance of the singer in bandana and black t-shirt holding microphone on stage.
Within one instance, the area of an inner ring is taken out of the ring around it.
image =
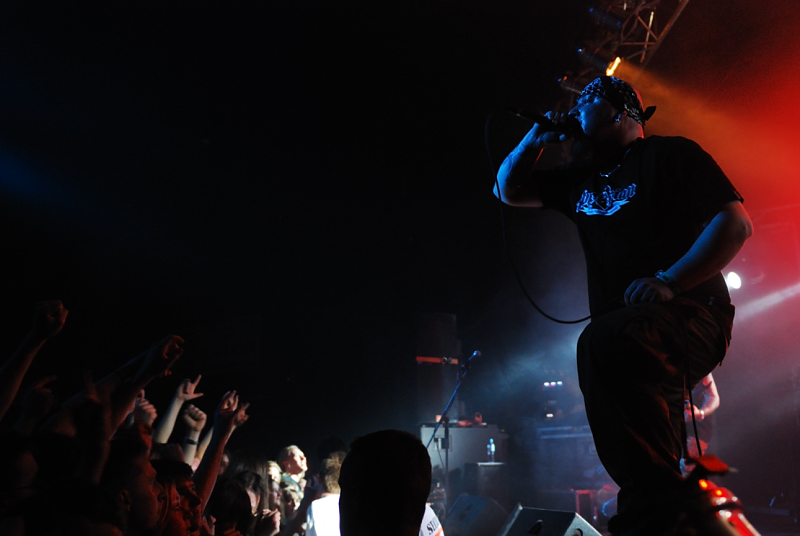
[[[657,534],[678,500],[684,390],[722,361],[733,306],[720,273],[752,233],[742,198],[695,142],[644,138],[627,82],[603,76],[506,157],[495,195],[577,225],[591,323],[578,375],[598,455],[620,486],[613,534]],[[569,144],[569,162],[537,167]]]

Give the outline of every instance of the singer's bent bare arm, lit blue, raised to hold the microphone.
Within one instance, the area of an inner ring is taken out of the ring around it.
[[[533,168],[546,146],[568,138],[563,133],[543,130],[540,125],[534,125],[500,165],[494,195],[503,203],[517,207],[542,206],[536,180],[531,176]]]

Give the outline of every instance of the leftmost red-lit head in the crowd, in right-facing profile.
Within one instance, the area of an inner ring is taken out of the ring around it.
[[[167,497],[150,464],[150,443],[139,428],[120,429],[111,441],[101,485],[125,513],[125,535],[152,535],[161,529]]]

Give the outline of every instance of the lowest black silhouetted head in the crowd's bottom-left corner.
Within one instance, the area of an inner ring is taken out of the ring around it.
[[[47,510],[42,510],[47,505]],[[107,490],[70,478],[44,487],[22,507],[25,534],[122,536],[125,516]]]

